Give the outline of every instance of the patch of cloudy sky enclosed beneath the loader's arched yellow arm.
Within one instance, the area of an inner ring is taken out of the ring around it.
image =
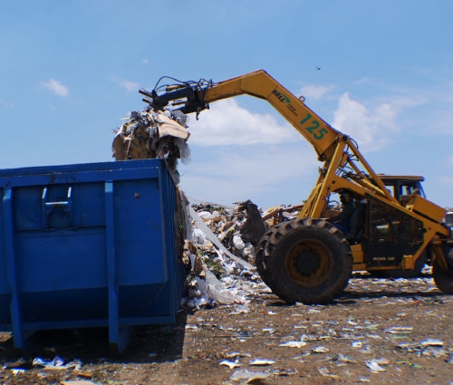
[[[289,123],[247,111],[234,99],[190,118],[192,161],[178,166],[189,198],[223,205],[252,199],[270,207],[299,204],[313,188],[320,164]]]

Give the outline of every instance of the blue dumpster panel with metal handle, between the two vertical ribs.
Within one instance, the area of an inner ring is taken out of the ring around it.
[[[14,188],[14,260],[22,322],[107,316],[103,183],[57,183]]]

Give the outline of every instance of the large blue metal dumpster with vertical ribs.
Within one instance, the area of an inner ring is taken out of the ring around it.
[[[184,284],[178,193],[165,162],[0,170],[0,330],[169,324]]]

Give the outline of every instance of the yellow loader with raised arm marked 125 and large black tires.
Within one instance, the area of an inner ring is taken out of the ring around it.
[[[255,256],[263,281],[285,302],[327,303],[342,293],[353,271],[408,272],[421,260],[430,261],[439,289],[453,294],[453,239],[446,210],[418,189],[401,202],[351,137],[267,72],[223,82],[164,77],[152,91],[140,93],[153,111],[195,112],[197,118],[211,102],[251,95],[268,101],[312,144],[323,165],[310,196],[296,218],[265,232]],[[341,197],[342,211],[333,207],[332,197]]]

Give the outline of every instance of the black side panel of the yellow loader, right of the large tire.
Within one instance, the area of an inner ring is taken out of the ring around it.
[[[367,195],[363,251],[368,266],[401,265],[423,244],[423,222]]]

